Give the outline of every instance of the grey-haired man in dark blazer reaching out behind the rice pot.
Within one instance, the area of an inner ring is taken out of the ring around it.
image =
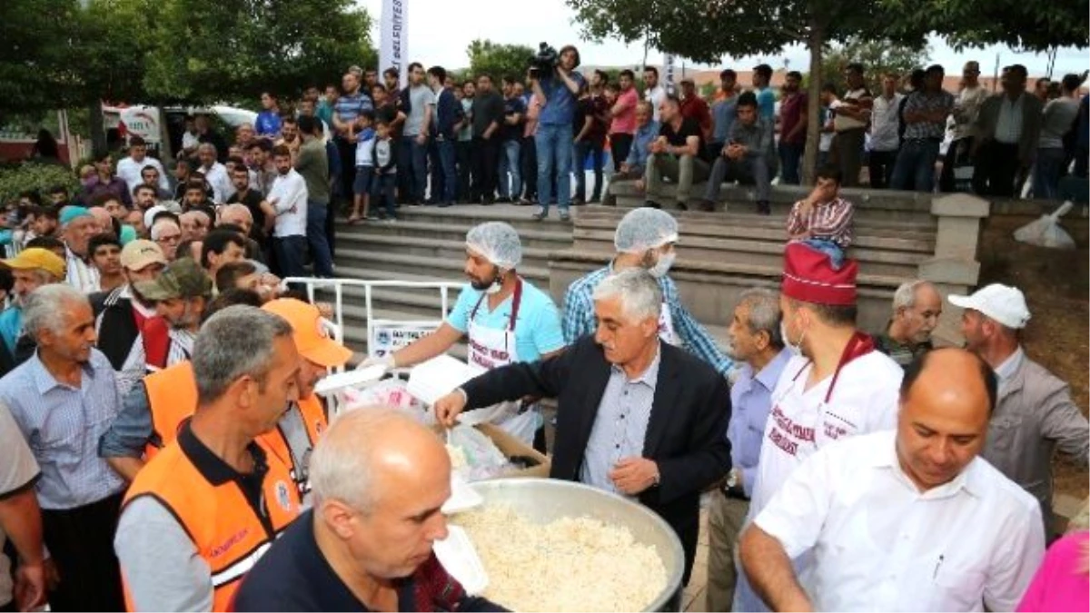
[[[594,337],[471,380],[439,399],[435,413],[450,426],[465,409],[557,398],[550,477],[639,500],[661,515],[681,539],[687,582],[700,494],[730,469],[723,436],[730,395],[711,366],[659,339],[662,303],[654,277],[621,271],[594,290]]]

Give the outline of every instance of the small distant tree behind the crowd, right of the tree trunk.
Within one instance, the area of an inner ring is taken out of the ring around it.
[[[867,86],[877,95],[882,91],[884,74],[907,75],[928,60],[930,51],[927,45],[912,47],[895,45],[888,40],[852,38],[847,43],[833,45],[825,53],[821,67],[821,83],[843,84],[844,69],[851,62],[859,62],[865,69]]]

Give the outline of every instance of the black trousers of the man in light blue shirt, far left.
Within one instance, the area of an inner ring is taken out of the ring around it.
[[[46,546],[61,577],[49,592],[53,613],[125,610],[121,567],[113,553],[122,495],[65,510],[41,510]]]

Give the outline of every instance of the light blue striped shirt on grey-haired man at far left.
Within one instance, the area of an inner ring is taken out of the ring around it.
[[[58,382],[35,354],[0,378],[0,402],[11,409],[41,467],[41,508],[71,509],[124,489],[98,457],[98,440],[121,410],[113,368],[101,351],[90,350],[78,388]]]

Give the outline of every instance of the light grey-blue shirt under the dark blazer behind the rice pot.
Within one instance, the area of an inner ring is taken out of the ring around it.
[[[579,469],[582,483],[619,494],[609,472],[623,458],[643,457],[661,358],[662,350],[635,378],[628,378],[620,366],[611,366]]]

